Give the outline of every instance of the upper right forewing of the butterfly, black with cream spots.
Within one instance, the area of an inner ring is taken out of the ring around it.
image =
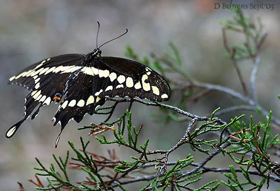
[[[101,76],[106,75],[98,86],[102,91],[100,98],[138,97],[157,102],[170,99],[171,90],[166,80],[141,63],[118,57],[98,57],[95,62],[98,72],[103,73]]]

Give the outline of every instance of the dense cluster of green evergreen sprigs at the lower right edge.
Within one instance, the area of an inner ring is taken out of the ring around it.
[[[228,182],[222,181],[223,184],[229,186],[232,190],[245,190],[244,186],[251,185],[249,190],[258,189],[260,190],[264,183],[267,182],[267,187],[269,186],[269,176],[268,174],[273,171],[272,162],[270,161],[268,149],[271,146],[279,145],[280,140],[277,140],[278,135],[270,138],[267,134],[271,120],[271,112],[269,116],[266,117],[266,123],[258,123],[253,125],[253,117],[251,117],[251,122],[248,129],[244,128],[244,122],[236,122],[235,128],[239,130],[236,139],[238,142],[234,144],[234,149],[225,152],[234,160],[235,163],[240,164],[240,172],[242,172],[243,177],[246,179],[245,182],[241,183],[238,180],[236,170],[232,165],[230,165],[230,173],[224,174],[228,178]],[[241,130],[241,131],[240,131]],[[248,131],[245,131],[248,130]],[[262,136],[260,136],[262,135]],[[236,157],[235,155],[240,155]],[[251,153],[250,158],[246,158],[246,155]],[[250,178],[249,169],[254,168],[262,176],[259,182],[254,182]]]

